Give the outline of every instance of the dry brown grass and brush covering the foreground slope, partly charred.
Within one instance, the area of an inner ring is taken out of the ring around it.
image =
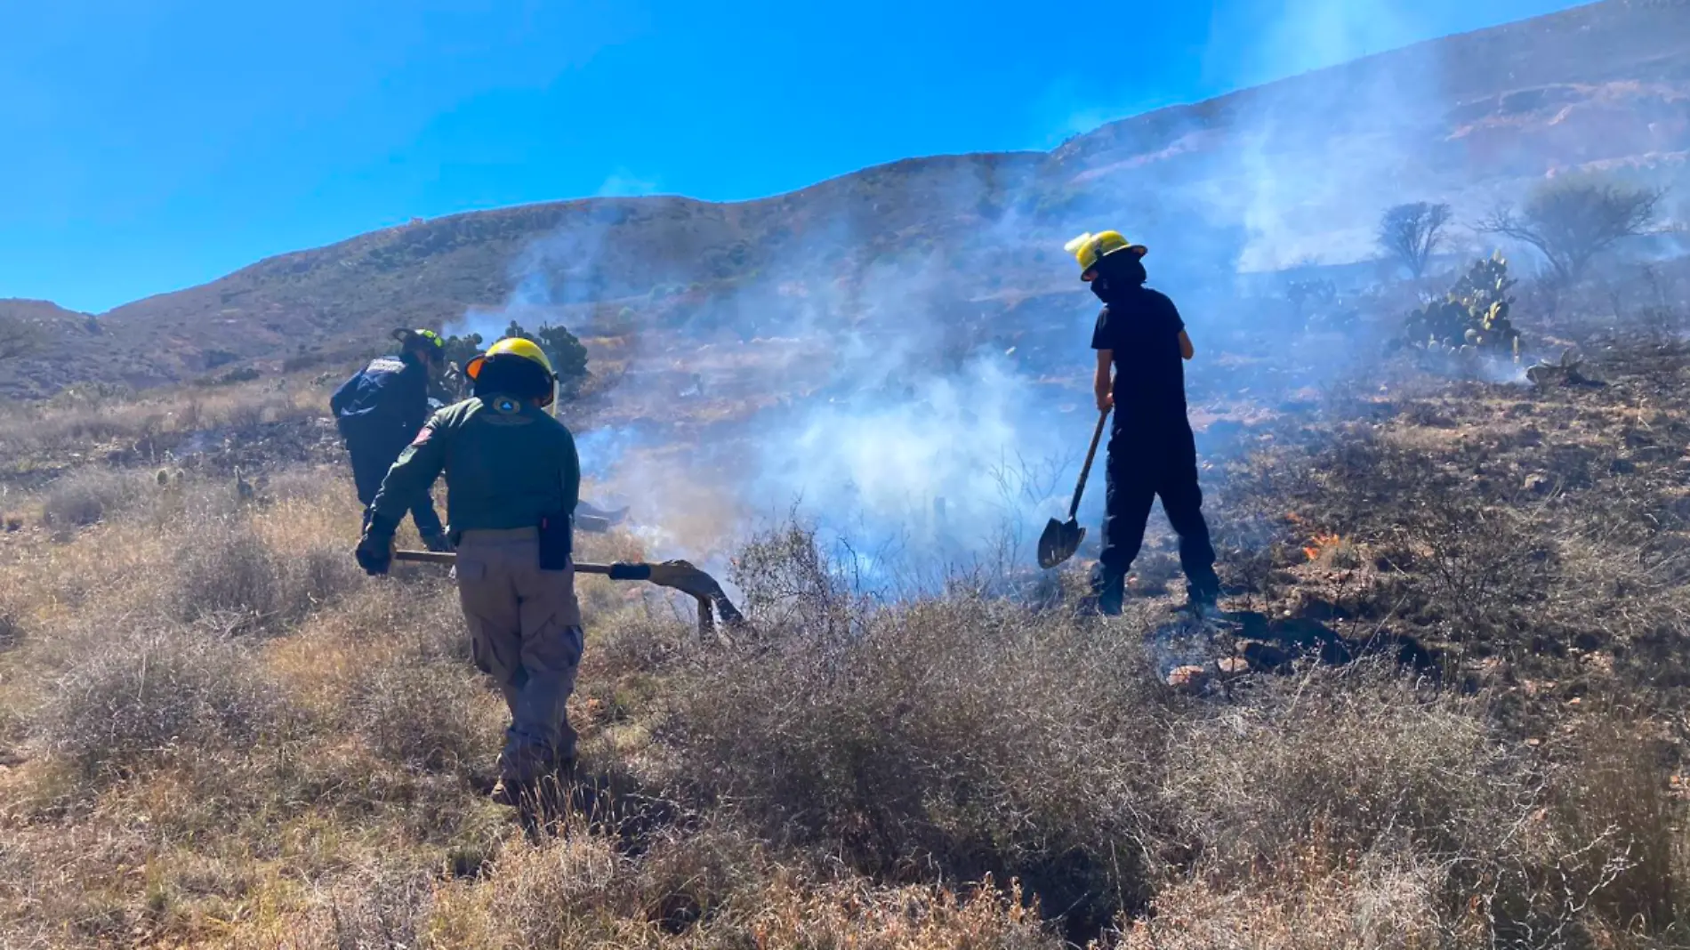
[[[446,578],[352,566],[309,385],[51,407],[0,431],[3,945],[1682,947],[1690,357],[1599,363],[1240,436],[1178,688],[1166,595],[874,603],[801,527],[732,646],[583,578],[537,840]]]

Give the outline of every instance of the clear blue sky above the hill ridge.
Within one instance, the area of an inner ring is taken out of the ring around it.
[[[590,194],[776,194],[1577,3],[0,0],[0,298]]]

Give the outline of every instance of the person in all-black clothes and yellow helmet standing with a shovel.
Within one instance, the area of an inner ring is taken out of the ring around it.
[[[1208,610],[1220,597],[1220,578],[1185,407],[1185,360],[1195,355],[1191,338],[1173,301],[1144,286],[1144,245],[1129,243],[1119,232],[1102,232],[1068,242],[1068,252],[1080,262],[1080,279],[1104,301],[1092,333],[1093,379],[1098,411],[1115,411],[1104,551],[1092,575],[1097,607],[1120,614],[1127,571],[1144,544],[1151,504],[1161,497],[1180,534],[1180,566],[1191,609]]]

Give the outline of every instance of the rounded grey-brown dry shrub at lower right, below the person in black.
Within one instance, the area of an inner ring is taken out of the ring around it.
[[[1403,845],[1450,859],[1533,801],[1528,769],[1472,703],[1354,674],[1286,693],[1173,729],[1163,794],[1208,865],[1244,872],[1315,837],[1340,857]]]

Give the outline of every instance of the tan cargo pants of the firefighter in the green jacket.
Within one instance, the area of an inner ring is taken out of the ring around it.
[[[581,609],[575,566],[539,570],[539,536],[465,531],[458,541],[458,600],[470,624],[475,666],[510,707],[500,778],[527,783],[573,764],[575,729],[564,702],[581,663]]]

